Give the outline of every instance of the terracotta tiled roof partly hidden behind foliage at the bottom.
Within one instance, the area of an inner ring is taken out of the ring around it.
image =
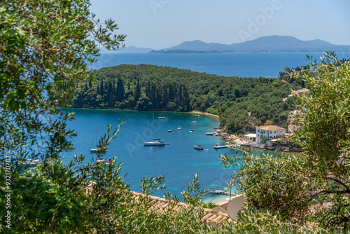
[[[134,198],[137,200],[137,197],[140,195],[143,195],[142,193],[132,192],[134,195]],[[163,211],[168,209],[169,207],[169,200],[165,198],[158,198],[155,196],[151,196],[150,198],[153,200],[153,204],[151,206],[151,209],[155,209],[155,211]],[[188,206],[188,204],[179,202],[178,205],[176,205],[174,208],[172,208],[174,211],[181,209],[181,207]],[[205,209],[204,208],[204,215],[202,216],[202,223],[224,223],[224,222],[232,222],[232,219],[228,216],[228,214],[223,214],[221,212],[216,212],[212,209]]]

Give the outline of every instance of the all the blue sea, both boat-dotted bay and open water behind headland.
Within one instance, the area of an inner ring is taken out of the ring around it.
[[[309,53],[318,59],[323,53]],[[350,53],[338,53],[338,57],[349,58]],[[297,67],[308,64],[307,53],[221,53],[221,54],[152,54],[117,53],[104,54],[92,69],[116,66],[118,64],[156,64],[178,67],[192,71],[241,77],[277,77],[284,67]],[[200,188],[222,190],[227,186],[232,174],[239,168],[225,167],[218,156],[228,154],[239,156],[232,149],[214,149],[214,144],[225,144],[221,137],[205,135],[218,128],[218,118],[213,116],[195,117],[193,113],[174,113],[162,111],[125,111],[106,109],[67,109],[75,113],[75,120],[68,125],[78,136],[73,139],[75,150],[64,154],[66,163],[73,153],[86,155],[86,162],[95,159],[90,149],[96,146],[96,135],[101,137],[107,125],[116,128],[124,121],[104,158],[116,156],[123,163],[122,172],[132,191],[141,192],[143,177],[165,176],[167,188],[154,191],[153,195],[162,197],[168,191],[181,198],[181,191],[188,188],[198,172]],[[154,121],[153,121],[154,115]],[[161,119],[158,117],[167,117]],[[193,123],[197,121],[197,123]],[[153,126],[154,125],[154,126]],[[181,127],[181,130],[177,130]],[[192,133],[189,133],[194,129]],[[172,130],[169,132],[169,130]],[[165,146],[144,146],[145,140],[152,137],[164,139]],[[207,151],[194,149],[200,144]],[[254,154],[262,151],[252,151]],[[274,152],[271,152],[274,153]],[[232,192],[237,191],[234,186]],[[205,195],[204,202],[218,202],[228,199],[225,195]]]

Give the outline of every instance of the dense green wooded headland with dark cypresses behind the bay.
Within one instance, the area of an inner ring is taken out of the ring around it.
[[[229,131],[254,130],[255,125],[283,125],[293,98],[282,102],[300,83],[276,78],[225,77],[155,65],[105,67],[92,71],[94,81],[76,83],[72,105],[218,113]]]

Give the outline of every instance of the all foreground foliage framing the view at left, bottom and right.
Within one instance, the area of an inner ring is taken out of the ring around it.
[[[349,231],[350,64],[337,62],[333,55],[320,64],[312,62],[307,67],[312,70],[295,73],[312,91],[300,97],[303,125],[296,140],[305,149],[302,156],[222,157],[227,165],[244,160],[235,179],[248,204],[237,223],[217,230],[202,225],[204,191],[197,174],[183,192],[191,205],[179,212],[149,209],[147,195],[165,188],[164,177],[143,179],[144,196],[135,199],[116,158],[110,165],[97,163],[118,128],[108,127],[90,163],[75,155],[64,164],[62,153],[73,149],[70,138],[75,133],[66,129],[73,116],[57,106],[64,106],[76,83],[90,76],[85,63],[94,62],[97,43],[118,48],[124,39],[111,37],[117,29],[113,21],[102,27],[90,18],[89,4],[17,0],[3,1],[0,7],[1,233]],[[41,164],[23,167],[24,158],[40,159]],[[169,193],[166,197],[170,207],[179,202]]]

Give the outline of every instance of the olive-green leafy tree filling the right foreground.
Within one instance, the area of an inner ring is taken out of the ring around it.
[[[241,164],[234,179],[248,199],[243,219],[265,216],[269,219],[262,224],[265,227],[276,219],[280,223],[276,230],[283,231],[294,226],[300,233],[350,232],[350,62],[338,62],[333,53],[326,53],[321,62],[311,60],[305,68],[293,74],[311,87],[309,95],[298,96],[302,113],[297,122],[302,125],[294,140],[304,153],[243,152],[221,160],[226,166]],[[285,223],[289,228],[283,228]]]

